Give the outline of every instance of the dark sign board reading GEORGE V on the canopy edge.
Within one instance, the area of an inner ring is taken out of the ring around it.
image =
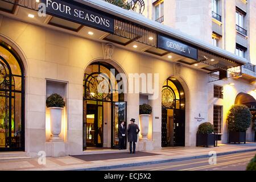
[[[158,35],[158,48],[197,60],[197,49],[177,40]]]

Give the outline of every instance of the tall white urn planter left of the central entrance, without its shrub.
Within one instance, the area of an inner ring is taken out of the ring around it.
[[[59,142],[62,139],[59,137],[61,132],[61,118],[62,118],[62,107],[49,107],[50,119],[51,119],[51,142]]]

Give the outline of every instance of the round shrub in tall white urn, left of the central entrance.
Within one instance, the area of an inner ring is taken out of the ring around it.
[[[61,117],[62,110],[65,106],[65,102],[63,97],[59,94],[54,93],[46,99],[46,106],[50,111],[50,119],[51,119],[51,141],[59,141],[61,140],[59,134],[61,132]]]

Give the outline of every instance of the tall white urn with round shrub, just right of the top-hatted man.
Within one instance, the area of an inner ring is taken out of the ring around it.
[[[148,124],[152,107],[148,104],[139,105],[139,121],[141,122],[141,135],[143,140],[147,140]]]

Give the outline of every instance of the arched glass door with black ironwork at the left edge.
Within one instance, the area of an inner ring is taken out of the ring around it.
[[[24,150],[24,72],[18,54],[0,41],[0,151]]]

